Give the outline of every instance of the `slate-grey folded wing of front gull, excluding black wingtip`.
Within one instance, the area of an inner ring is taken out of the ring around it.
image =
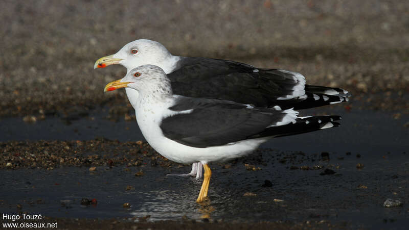
[[[248,109],[245,105],[219,99],[180,97],[169,108],[182,112],[162,120],[165,137],[192,147],[225,145],[248,139],[271,125],[294,121],[293,110]]]

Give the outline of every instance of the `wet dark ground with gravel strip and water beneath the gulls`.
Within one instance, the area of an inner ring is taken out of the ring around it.
[[[407,115],[396,119],[396,113],[345,106],[304,113],[342,115],[342,126],[272,139],[245,158],[212,163],[209,199],[201,204],[195,202],[201,180],[166,176],[187,173],[191,166],[158,155],[125,115],[116,119],[106,109],[69,123],[63,116],[34,123],[3,119],[8,129],[0,143],[0,186],[8,192],[0,210],[41,213],[66,226],[72,218],[86,218],[94,225],[83,220],[85,228],[409,224]],[[17,132],[21,127],[24,133]],[[49,134],[33,135],[39,130]],[[385,208],[388,198],[401,205]]]

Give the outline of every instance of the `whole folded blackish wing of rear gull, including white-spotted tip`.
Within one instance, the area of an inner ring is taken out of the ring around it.
[[[220,59],[181,58],[168,76],[175,94],[222,98],[255,107],[308,109],[348,101],[350,96],[339,88],[305,85],[304,76],[296,72]]]

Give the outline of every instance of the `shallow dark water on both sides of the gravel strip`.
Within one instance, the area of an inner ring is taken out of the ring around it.
[[[209,199],[202,205],[195,202],[201,181],[166,176],[189,172],[189,166],[145,166],[143,176],[134,176],[140,167],[130,167],[129,171],[125,166],[98,167],[95,172],[87,167],[63,167],[52,171],[1,170],[0,210],[74,218],[149,215],[151,221],[186,216],[251,222],[326,220],[354,228],[407,226],[409,132],[403,124],[408,116],[395,120],[390,113],[346,112],[342,107],[319,111],[342,115],[342,126],[273,139],[255,154],[229,162],[230,168],[223,168],[225,163],[212,163]],[[120,141],[143,139],[136,122],[112,122],[104,118],[106,113],[95,111],[70,125],[58,117],[33,124],[23,123],[21,118],[3,119],[0,126],[5,132],[0,140],[87,140],[96,136]],[[329,161],[322,159],[323,151],[329,152]],[[245,163],[261,170],[248,171]],[[358,163],[365,167],[357,169]],[[323,168],[312,170],[315,165]],[[300,170],[300,166],[310,170]],[[336,173],[320,175],[325,168]],[[272,187],[263,187],[265,180],[272,182]],[[132,188],[126,190],[127,186]],[[243,196],[246,192],[256,196]],[[81,206],[82,198],[96,198],[98,204]],[[387,198],[399,199],[403,206],[384,208]],[[125,202],[130,203],[129,209],[122,207]],[[22,205],[21,210],[16,208],[17,203]]]

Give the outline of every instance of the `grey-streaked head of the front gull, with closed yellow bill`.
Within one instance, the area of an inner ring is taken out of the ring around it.
[[[166,73],[155,65],[142,65],[131,69],[123,79],[108,83],[104,92],[120,88],[131,88],[138,91],[153,89],[155,92],[165,91],[171,93],[170,80]]]

